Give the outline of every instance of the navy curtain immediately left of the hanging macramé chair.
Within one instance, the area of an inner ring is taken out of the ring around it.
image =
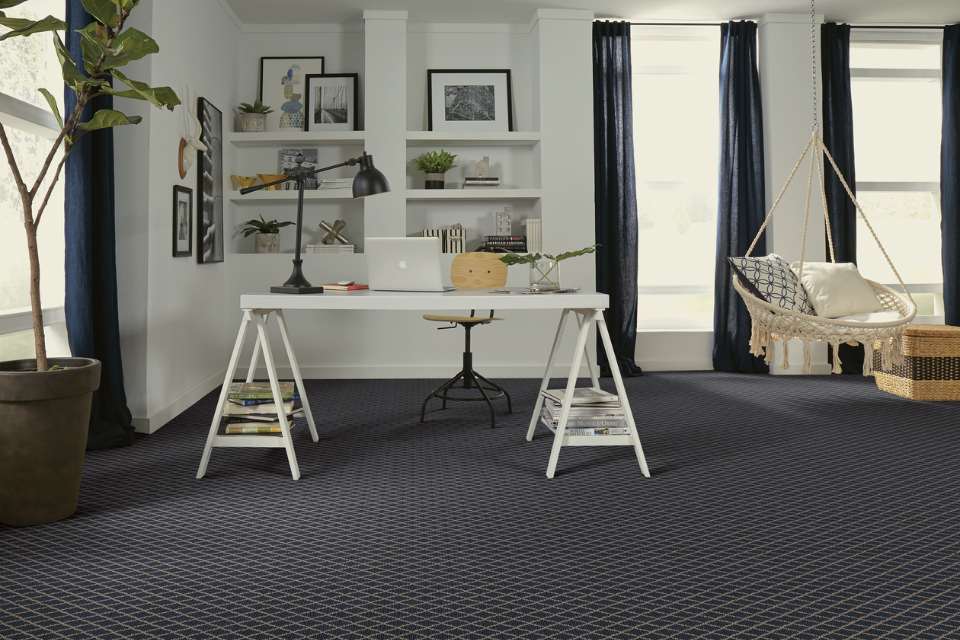
[[[757,25],[720,27],[720,188],[713,310],[713,368],[765,373],[750,355],[750,316],[730,283],[727,258],[742,256],[765,215],[763,110],[757,71]],[[766,254],[760,239],[754,255]]]

